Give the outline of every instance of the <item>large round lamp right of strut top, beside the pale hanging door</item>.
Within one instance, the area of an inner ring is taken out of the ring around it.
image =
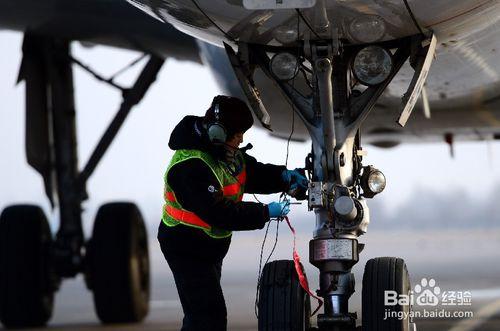
[[[391,54],[379,46],[365,47],[354,58],[353,71],[364,85],[380,84],[391,74]]]

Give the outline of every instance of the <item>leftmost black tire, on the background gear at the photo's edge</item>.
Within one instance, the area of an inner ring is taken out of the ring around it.
[[[52,316],[52,235],[38,206],[15,205],[0,215],[0,321],[7,328],[44,326]]]

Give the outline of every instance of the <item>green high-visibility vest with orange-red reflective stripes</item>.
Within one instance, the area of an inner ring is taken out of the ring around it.
[[[213,238],[229,237],[231,235],[231,231],[212,227],[195,213],[183,209],[177,201],[175,193],[168,185],[167,175],[172,166],[191,158],[201,159],[207,164],[222,187],[224,197],[235,201],[241,201],[243,198],[244,184],[246,181],[246,171],[243,158],[241,158],[242,171],[235,177],[231,175],[229,170],[223,167],[221,163],[214,160],[207,153],[198,150],[177,150],[172,158],[172,161],[170,162],[170,165],[168,166],[167,172],[165,173],[165,206],[163,210],[163,222],[167,226],[184,224],[199,228]]]

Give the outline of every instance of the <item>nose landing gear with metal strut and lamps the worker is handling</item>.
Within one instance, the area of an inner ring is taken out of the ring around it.
[[[356,313],[349,312],[349,298],[354,293],[351,269],[364,248],[358,237],[366,233],[370,222],[366,199],[373,198],[385,187],[382,172],[362,165],[360,126],[410,58],[415,75],[403,98],[398,120],[401,125],[406,123],[425,82],[435,45],[435,37],[420,35],[374,45],[342,44],[340,40],[297,41],[295,46],[286,49],[239,44],[238,54],[226,45],[236,77],[261,123],[269,127],[270,117],[255,85],[256,68],[279,86],[311,136],[312,153],[307,170],[312,180],[308,205],[316,215],[316,228],[310,241],[309,260],[320,272],[317,293],[324,300],[324,312],[317,319],[320,330],[359,329]],[[274,53],[272,59],[270,53]],[[297,76],[298,72],[302,76]],[[290,277],[285,282],[293,282],[293,276]],[[407,294],[410,288],[404,261],[371,260],[363,285],[363,307],[366,308],[363,330],[403,331],[414,327],[409,320],[380,322],[385,312],[384,302],[380,302],[384,291]],[[272,288],[273,295],[279,296],[275,300],[285,304],[280,309],[297,309],[285,301],[288,294],[279,286]],[[265,298],[266,295],[260,297]],[[265,305],[263,302],[259,307]],[[409,306],[387,308],[410,309]],[[259,330],[282,330],[269,322],[284,321],[279,311],[260,311]],[[276,325],[282,325],[279,323]],[[293,327],[302,330],[304,326]]]

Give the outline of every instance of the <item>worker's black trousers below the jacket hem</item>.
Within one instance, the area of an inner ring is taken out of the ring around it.
[[[178,240],[169,240],[166,228],[160,225],[158,241],[184,310],[181,331],[225,331],[227,310],[220,285],[222,259],[183,253],[175,245]]]

